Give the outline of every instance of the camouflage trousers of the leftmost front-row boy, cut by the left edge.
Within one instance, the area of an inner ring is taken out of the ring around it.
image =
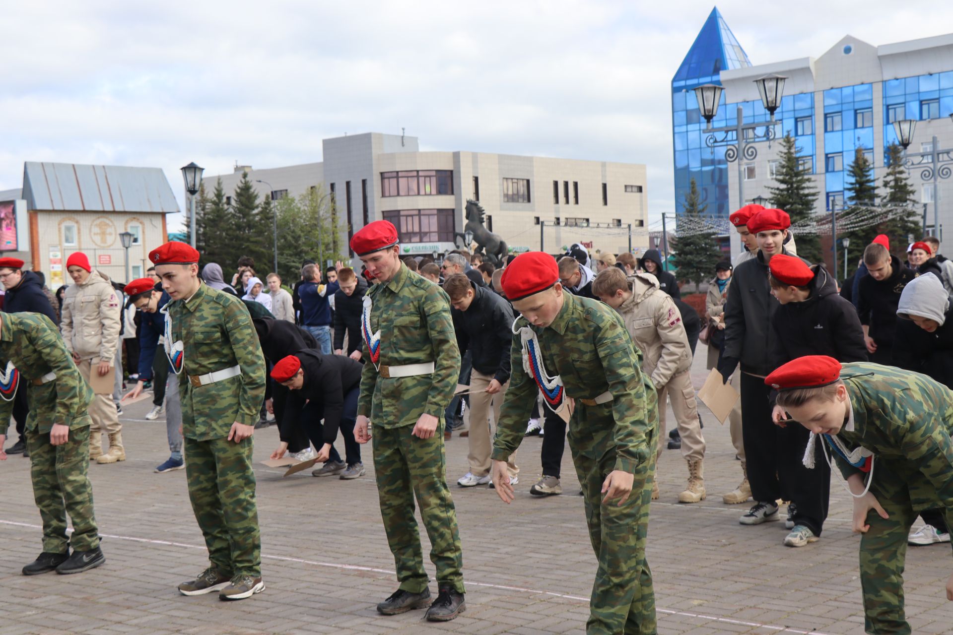
[[[86,415],[89,419],[89,416]],[[66,553],[70,546],[89,551],[99,546],[99,529],[92,513],[92,486],[87,476],[90,466],[90,424],[74,427],[62,446],[50,443],[50,433],[36,426],[27,428],[33,498],[43,519],[43,550]],[[72,520],[72,536],[67,538],[66,516]]]

